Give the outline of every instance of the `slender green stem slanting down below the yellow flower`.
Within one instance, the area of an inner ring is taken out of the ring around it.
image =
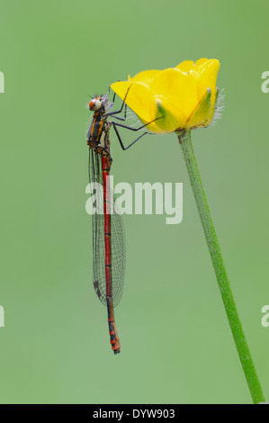
[[[258,402],[264,402],[265,397],[256,374],[256,368],[250,355],[241,321],[239,320],[237,306],[230,289],[228,275],[221,256],[218,238],[211,220],[211,212],[202,188],[202,181],[193,151],[191,130],[181,130],[180,132],[177,132],[176,135],[178,136],[178,140],[184,154],[184,161],[193,187],[195,202],[202,220],[202,228],[210,250],[212,264],[220,288],[220,294],[229,320],[229,326],[238,349],[241,365],[247,378],[249,391],[255,404]]]

